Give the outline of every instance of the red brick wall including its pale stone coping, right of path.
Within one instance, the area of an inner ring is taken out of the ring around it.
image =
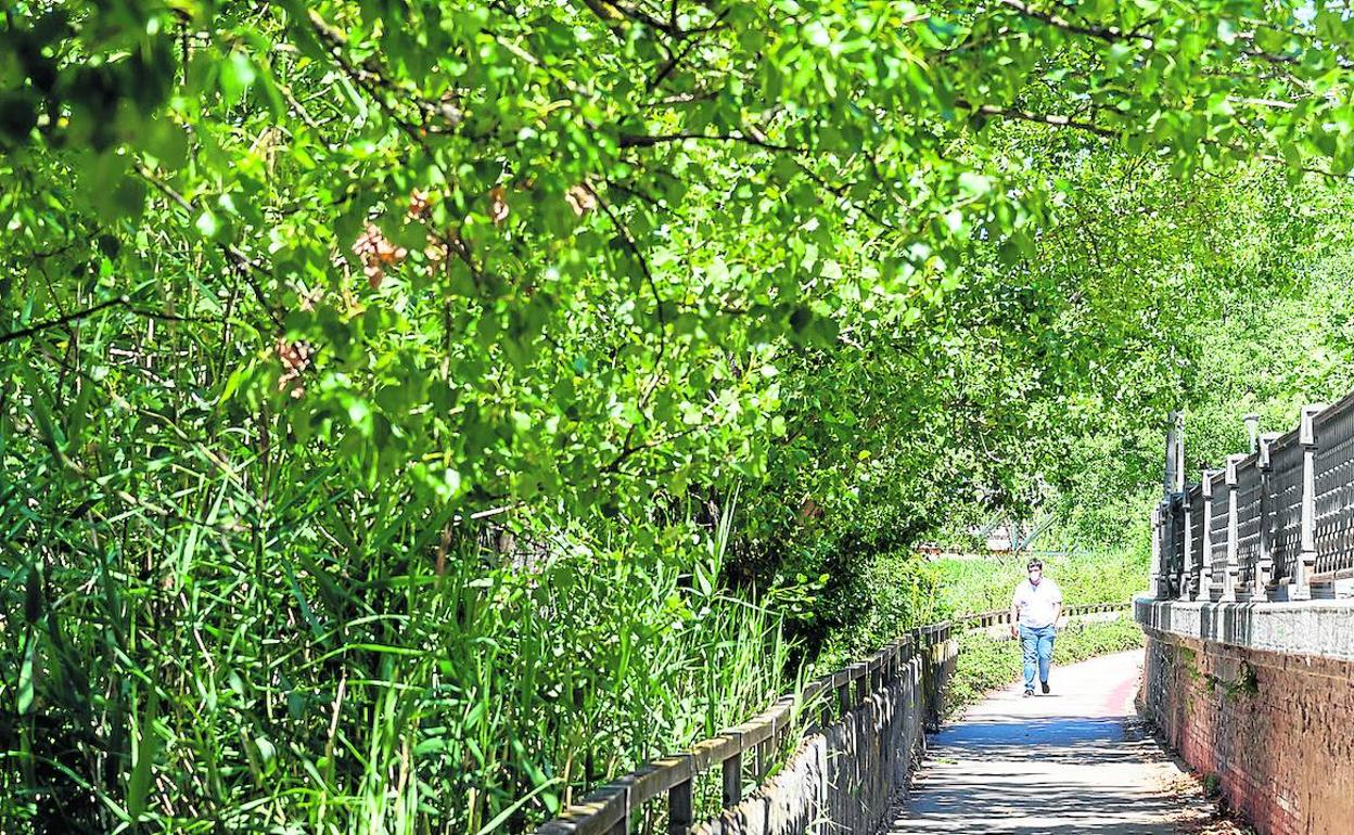
[[[1262,835],[1354,831],[1354,604],[1140,600],[1140,709]]]

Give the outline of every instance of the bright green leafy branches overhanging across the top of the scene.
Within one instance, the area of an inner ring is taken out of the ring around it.
[[[1034,254],[1066,183],[1024,176],[1011,123],[1177,173],[1354,160],[1350,23],[1307,4],[24,3],[5,27],[7,342],[215,323],[179,380],[210,425],[263,407],[368,489],[475,509],[757,472],[785,340],[834,344],[844,306],[906,333],[976,246]]]

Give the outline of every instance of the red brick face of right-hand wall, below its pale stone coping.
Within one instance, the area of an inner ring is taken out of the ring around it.
[[[1140,709],[1262,835],[1354,832],[1354,663],[1148,629]]]

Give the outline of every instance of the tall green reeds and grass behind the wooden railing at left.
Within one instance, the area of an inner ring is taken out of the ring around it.
[[[519,832],[789,682],[727,533],[513,566],[348,464],[167,428],[92,482],[41,424],[0,433],[5,834]]]

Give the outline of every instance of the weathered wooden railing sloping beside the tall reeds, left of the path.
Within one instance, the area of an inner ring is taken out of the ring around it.
[[[860,663],[808,682],[766,710],[681,754],[665,757],[593,790],[582,803],[569,807],[559,817],[538,830],[538,835],[624,835],[646,804],[666,798],[668,832],[685,832],[696,823],[695,788],[707,771],[720,770],[723,808],[743,798],[745,773],[754,784],[766,780],[772,757],[787,736],[803,727],[822,728],[862,705],[872,693],[899,679],[918,660],[923,666],[951,640],[951,624],[913,629]],[[926,692],[926,724],[940,716],[937,677],[921,677]],[[657,804],[655,804],[657,805]]]

